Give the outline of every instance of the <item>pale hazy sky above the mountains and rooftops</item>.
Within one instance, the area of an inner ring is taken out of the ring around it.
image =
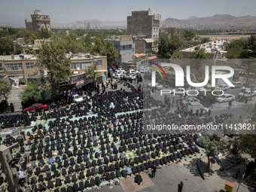
[[[255,0],[0,0],[0,25],[25,26],[25,18],[30,20],[35,9],[50,15],[51,23],[69,23],[90,19],[126,21],[132,11],[148,8],[153,14],[161,14],[162,20],[214,14],[256,16]]]

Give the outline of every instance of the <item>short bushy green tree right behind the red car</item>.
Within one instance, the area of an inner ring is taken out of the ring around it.
[[[23,87],[23,91],[20,93],[20,99],[28,105],[42,102],[44,100],[43,93],[37,81],[27,81],[27,86]]]

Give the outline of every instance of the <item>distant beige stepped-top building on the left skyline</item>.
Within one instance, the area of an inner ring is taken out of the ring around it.
[[[42,15],[41,11],[35,10],[31,15],[32,20],[25,20],[26,29],[32,32],[38,32],[42,28],[50,29],[50,17],[49,15]]]

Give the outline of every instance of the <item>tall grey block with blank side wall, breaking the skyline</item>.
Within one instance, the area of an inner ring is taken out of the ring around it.
[[[152,14],[148,11],[132,11],[132,16],[127,17],[127,34],[145,36],[151,38],[152,42],[159,38],[160,14]],[[157,44],[151,47],[157,51]]]

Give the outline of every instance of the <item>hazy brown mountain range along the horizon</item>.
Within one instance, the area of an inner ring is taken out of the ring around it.
[[[101,21],[88,20],[90,29],[126,29],[126,21]],[[13,25],[21,27],[20,25]],[[25,26],[25,23],[24,23]],[[23,27],[24,27],[23,26]],[[51,23],[52,28],[59,29],[85,29],[84,20],[72,23]],[[190,29],[224,29],[224,30],[253,30],[256,31],[256,17],[242,16],[234,17],[230,14],[215,14],[212,17],[189,17],[187,20],[167,18],[160,21],[161,28],[190,28]]]

